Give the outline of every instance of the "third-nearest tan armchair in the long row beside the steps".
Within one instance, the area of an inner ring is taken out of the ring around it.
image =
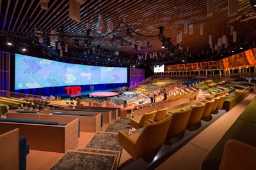
[[[205,108],[205,103],[197,103],[191,105],[191,113],[188,120],[187,127],[191,127],[191,125],[195,125],[200,122],[203,112]]]

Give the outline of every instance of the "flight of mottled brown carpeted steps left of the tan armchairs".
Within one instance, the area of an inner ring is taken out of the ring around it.
[[[106,132],[97,132],[90,142],[74,152],[67,152],[51,168],[55,169],[116,169],[122,146],[119,145],[118,131],[129,134],[129,119],[116,120],[109,124]]]

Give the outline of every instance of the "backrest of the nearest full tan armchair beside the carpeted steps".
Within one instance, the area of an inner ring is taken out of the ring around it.
[[[145,125],[135,143],[136,156],[134,159],[138,159],[141,156],[152,152],[165,142],[170,122],[171,117],[166,117],[159,122]]]

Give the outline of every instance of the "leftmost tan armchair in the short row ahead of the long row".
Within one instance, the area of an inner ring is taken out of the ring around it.
[[[134,127],[135,129],[140,129],[141,127],[143,127],[144,122],[147,121],[148,119],[154,120],[155,113],[156,111],[154,110],[149,113],[145,113],[142,116],[131,118],[130,119],[131,127]]]

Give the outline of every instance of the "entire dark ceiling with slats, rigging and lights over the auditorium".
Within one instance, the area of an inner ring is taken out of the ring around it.
[[[252,46],[256,39],[255,7],[253,9],[252,3],[255,1],[6,0],[0,1],[0,34],[2,42],[12,38],[15,47],[11,52],[22,52],[20,46],[27,46],[28,50],[24,53],[29,54],[30,47],[29,55],[82,60],[86,61],[85,64],[90,60],[93,64],[103,65],[108,62],[172,64],[183,59],[188,62],[212,60],[214,56],[230,53],[240,45]],[[72,7],[77,4],[80,11]],[[236,4],[237,10],[233,8]],[[70,11],[76,15],[70,15]],[[99,15],[102,15],[101,33],[97,32]],[[107,30],[109,21],[113,22],[113,37]],[[90,24],[90,29],[86,24]],[[193,31],[189,29],[192,25]],[[235,42],[231,27],[237,32]],[[212,46],[209,45],[209,35]],[[223,40],[226,43],[220,40],[223,36],[226,36]],[[43,42],[38,42],[38,37]],[[57,46],[61,43],[62,57],[58,47],[56,50],[52,50],[52,46],[47,47],[51,38],[58,39]],[[181,41],[177,41],[179,39]],[[84,42],[88,45],[86,48]],[[65,45],[68,45],[68,52],[65,52]],[[1,46],[1,50],[6,49],[11,48]],[[87,58],[84,57],[86,49],[90,51]]]

